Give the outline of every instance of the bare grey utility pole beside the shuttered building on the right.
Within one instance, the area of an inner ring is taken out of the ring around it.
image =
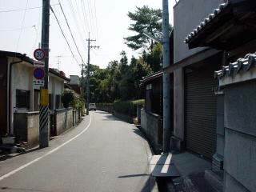
[[[168,0],[162,0],[163,68],[170,65]],[[170,151],[170,74],[162,76],[163,88],[163,153]]]

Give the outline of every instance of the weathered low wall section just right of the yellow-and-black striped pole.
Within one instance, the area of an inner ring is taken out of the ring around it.
[[[73,126],[73,109],[54,110],[54,134],[59,135]]]

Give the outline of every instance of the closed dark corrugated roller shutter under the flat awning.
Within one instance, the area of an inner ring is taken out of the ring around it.
[[[186,147],[206,158],[212,158],[216,147],[217,97],[212,88],[218,81],[210,68],[186,74]]]

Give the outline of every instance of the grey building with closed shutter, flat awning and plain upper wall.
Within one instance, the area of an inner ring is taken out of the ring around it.
[[[174,63],[164,69],[174,75],[170,147],[190,150],[209,160],[215,154],[218,124],[218,97],[213,91],[218,81],[213,74],[222,65],[222,52],[208,47],[190,50],[184,38],[222,2],[181,0],[174,6]]]

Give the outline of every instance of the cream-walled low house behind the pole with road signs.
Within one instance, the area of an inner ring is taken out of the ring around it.
[[[39,110],[40,87],[33,83],[33,62],[26,54],[0,51],[0,134],[14,134],[14,113]],[[69,81],[49,70],[50,110],[62,108],[61,94]]]

